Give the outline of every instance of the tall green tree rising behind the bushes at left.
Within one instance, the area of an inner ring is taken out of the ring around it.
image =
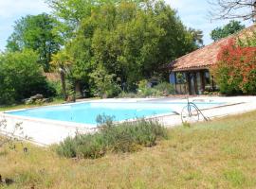
[[[38,62],[47,72],[52,54],[60,50],[64,43],[57,30],[58,22],[46,13],[28,15],[15,22],[14,31],[9,36],[7,50],[10,52],[32,49],[39,54]]]

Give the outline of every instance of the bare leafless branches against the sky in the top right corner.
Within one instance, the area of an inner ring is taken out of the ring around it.
[[[213,19],[243,19],[255,20],[255,0],[210,0]]]

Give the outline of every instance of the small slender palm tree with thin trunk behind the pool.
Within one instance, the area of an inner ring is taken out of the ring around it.
[[[66,53],[65,50],[61,50],[57,54],[53,55],[52,61],[50,62],[52,68],[60,74],[64,100],[67,99],[65,75],[71,65],[71,62],[71,57]]]

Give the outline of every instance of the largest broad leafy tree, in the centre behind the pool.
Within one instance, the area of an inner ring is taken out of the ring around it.
[[[98,90],[91,73],[101,64],[109,76],[120,78],[119,85],[126,83],[133,91],[143,78],[165,77],[160,66],[197,47],[174,9],[162,1],[141,5],[102,3],[82,17],[75,37],[66,44],[76,80]]]

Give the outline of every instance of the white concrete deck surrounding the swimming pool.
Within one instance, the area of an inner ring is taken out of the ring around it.
[[[151,102],[155,105],[157,102],[187,102],[187,99],[181,98],[119,98],[119,99],[102,99],[93,100],[94,102]],[[220,106],[202,110],[205,116],[210,119],[216,117],[222,117],[233,114],[240,114],[243,112],[250,112],[256,110],[256,96],[234,96],[234,97],[217,97],[217,96],[196,96],[190,97],[190,101],[213,101],[213,102],[227,102],[226,106]],[[89,101],[88,101],[89,102]],[[180,113],[182,106],[172,105],[174,112]],[[159,122],[164,124],[168,128],[172,128],[181,125],[180,114],[170,113],[170,115],[157,116]],[[11,132],[16,123],[22,123],[24,137],[27,135],[30,138],[30,142],[39,146],[48,146],[55,143],[59,143],[67,136],[74,136],[76,132],[93,132],[96,129],[88,129],[85,124],[52,121],[46,119],[36,119],[30,117],[23,117],[17,115],[11,115],[4,112],[0,112],[0,120],[7,121],[7,128],[0,129],[2,134],[8,134]]]

